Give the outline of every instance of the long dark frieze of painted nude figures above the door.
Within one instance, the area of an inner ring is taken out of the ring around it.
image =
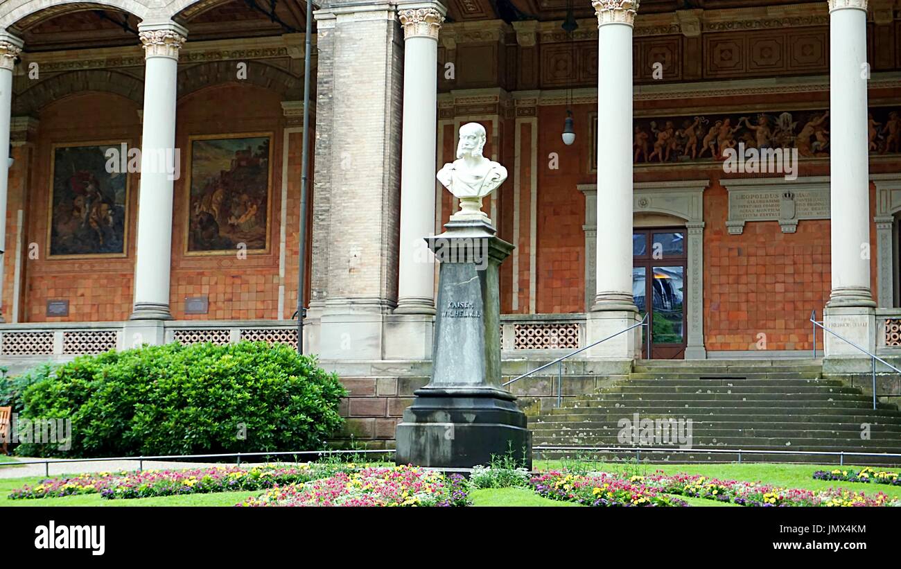
[[[603,131],[603,124],[600,127]],[[869,110],[869,151],[901,153],[901,107]],[[829,111],[775,111],[637,118],[635,164],[721,161],[727,149],[797,149],[799,158],[825,158]]]

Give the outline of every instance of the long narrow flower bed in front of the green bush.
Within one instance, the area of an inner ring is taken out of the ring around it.
[[[151,498],[178,494],[261,490],[277,484],[309,482],[358,465],[306,463],[302,465],[213,466],[186,470],[82,474],[50,478],[9,494],[11,500],[99,493],[106,499]]]

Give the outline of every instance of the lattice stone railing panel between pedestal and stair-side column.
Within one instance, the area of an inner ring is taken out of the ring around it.
[[[508,314],[501,317],[504,349],[578,349],[585,345],[581,314]]]

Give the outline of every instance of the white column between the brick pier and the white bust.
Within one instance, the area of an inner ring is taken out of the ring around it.
[[[400,5],[404,26],[404,123],[400,179],[400,260],[396,314],[434,314],[432,252],[438,113],[440,4]]]

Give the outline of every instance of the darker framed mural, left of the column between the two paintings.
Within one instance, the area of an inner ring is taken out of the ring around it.
[[[111,172],[106,151],[126,144],[55,144],[50,152],[48,257],[125,257],[128,251],[128,172]]]

